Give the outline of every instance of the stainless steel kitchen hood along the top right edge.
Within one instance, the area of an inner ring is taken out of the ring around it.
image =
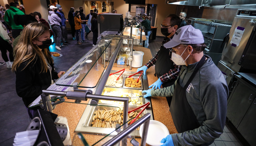
[[[256,5],[252,0],[165,0],[165,4],[192,6]]]

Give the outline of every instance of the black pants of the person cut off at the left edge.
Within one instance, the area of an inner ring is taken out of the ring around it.
[[[2,37],[0,37],[0,51],[2,54],[2,58],[4,59],[5,62],[8,62],[9,59],[7,57],[7,50],[9,51],[9,58],[10,62],[13,62],[13,49],[12,45],[10,45],[6,40],[4,40]]]

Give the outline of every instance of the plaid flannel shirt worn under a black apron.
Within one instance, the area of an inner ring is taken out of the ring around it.
[[[172,37],[170,39],[168,37],[164,37],[164,40],[162,42],[161,47],[164,47],[164,44],[167,43],[168,41],[170,41],[171,39],[172,39]],[[169,49],[169,57],[171,59],[171,57],[172,57],[172,52],[171,52],[172,48],[166,48],[166,49]],[[160,49],[159,49],[159,51],[160,51]],[[151,58],[149,60],[148,63],[145,64],[145,66],[147,68],[150,68],[151,66],[156,64],[156,60],[157,60],[159,51],[156,53],[156,55],[153,58]],[[173,63],[174,69],[170,69],[169,72],[167,72],[163,76],[159,77],[162,83],[167,82],[167,81],[169,81],[171,79],[174,79],[175,77],[178,77],[178,75],[180,73],[182,65],[176,65],[172,61],[172,59],[171,59],[171,62]]]

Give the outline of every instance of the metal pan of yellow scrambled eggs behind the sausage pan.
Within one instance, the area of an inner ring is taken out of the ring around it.
[[[127,97],[130,96],[132,97],[136,97],[136,95],[134,95],[134,93],[138,93],[138,95],[142,95],[142,90],[135,90],[135,89],[124,89],[124,88],[111,88],[111,87],[105,87],[102,95],[107,95],[107,96],[117,96],[117,97]],[[143,98],[136,98],[138,99],[139,102],[134,102],[134,98],[132,98],[132,100],[129,102],[129,106],[134,106],[134,107],[138,107],[143,105]],[[109,100],[100,100],[99,104],[108,104],[111,106],[123,106],[124,103],[123,102],[117,102],[117,101],[109,101]]]

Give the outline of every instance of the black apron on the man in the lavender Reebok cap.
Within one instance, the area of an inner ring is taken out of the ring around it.
[[[194,72],[191,77],[188,79],[188,82],[184,87],[180,86],[180,78],[177,81],[177,84],[174,88],[174,92],[172,95],[172,102],[170,106],[170,112],[172,114],[172,120],[174,125],[178,131],[178,133],[183,133],[188,130],[193,130],[201,125],[198,123],[195,114],[193,113],[191,107],[188,104],[186,98],[186,90],[188,85],[194,79],[197,71],[202,67],[205,61],[205,56],[198,62]],[[213,141],[212,141],[213,142]],[[201,144],[200,146],[210,145],[212,142],[208,142],[207,144]]]

